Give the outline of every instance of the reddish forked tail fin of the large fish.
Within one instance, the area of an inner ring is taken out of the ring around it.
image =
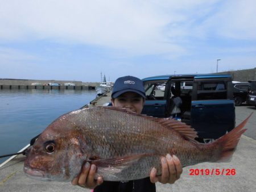
[[[245,119],[242,123],[240,123],[236,128],[227,133],[226,135],[220,137],[220,139],[216,140],[216,144],[221,148],[219,151],[218,162],[229,161],[232,157],[234,151],[236,150],[238,141],[242,133],[244,133],[247,129],[243,129],[245,124],[249,120],[250,116],[253,112]],[[215,143],[215,142],[214,142]]]

